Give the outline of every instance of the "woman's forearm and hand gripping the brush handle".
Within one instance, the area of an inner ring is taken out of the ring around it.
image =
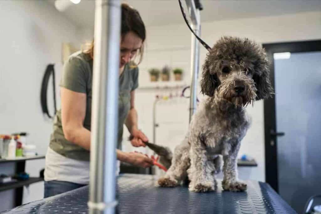
[[[134,137],[131,140],[132,145],[135,147],[145,147],[146,145],[143,142],[148,142],[148,138],[142,131],[138,130],[137,120],[137,111],[135,109],[135,91],[133,90],[130,92],[130,110],[126,118],[125,125],[129,133]]]

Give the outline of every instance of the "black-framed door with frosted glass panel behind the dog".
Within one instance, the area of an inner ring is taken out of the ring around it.
[[[266,182],[302,213],[321,194],[321,40],[263,47],[275,90],[264,102]]]

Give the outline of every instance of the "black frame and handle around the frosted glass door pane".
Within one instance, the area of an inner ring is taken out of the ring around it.
[[[263,44],[270,64],[270,79],[273,89],[275,89],[274,82],[274,53],[282,52],[313,52],[321,51],[321,40],[297,41],[285,43],[268,43]],[[271,134],[271,131],[278,132],[276,127],[275,115],[275,96],[264,100],[264,132],[265,132],[265,182],[278,193],[278,165],[277,165],[277,135]],[[286,133],[285,133],[286,134]]]

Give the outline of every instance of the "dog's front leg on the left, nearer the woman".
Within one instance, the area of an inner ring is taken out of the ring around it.
[[[191,138],[191,167],[187,170],[190,179],[189,190],[194,192],[214,191],[213,163],[209,164],[206,147],[199,137]]]

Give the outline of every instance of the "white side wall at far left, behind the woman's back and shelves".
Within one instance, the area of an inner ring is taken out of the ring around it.
[[[0,133],[28,132],[29,143],[44,155],[48,148],[52,121],[46,120],[40,107],[41,81],[47,64],[56,71],[57,107],[60,107],[61,43],[79,43],[75,26],[45,1],[0,1]],[[49,84],[51,86],[51,84]],[[52,102],[52,89],[48,99]],[[53,105],[49,103],[53,113]],[[45,160],[26,162],[26,172],[39,176]],[[7,167],[13,167],[7,166]],[[0,165],[0,173],[4,171]],[[43,197],[43,182],[30,185],[23,202]],[[0,192],[1,210],[11,208],[13,191]],[[7,206],[7,207],[5,207]]]

